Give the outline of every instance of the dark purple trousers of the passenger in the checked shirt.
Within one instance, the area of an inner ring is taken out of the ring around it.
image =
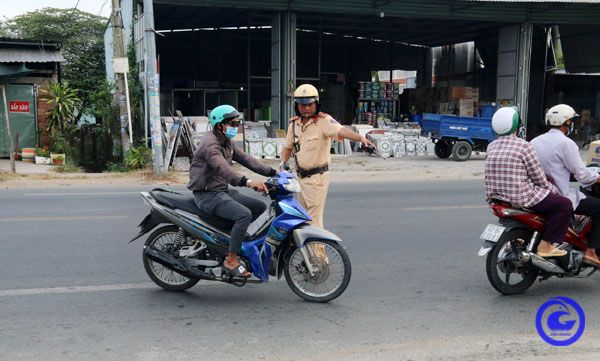
[[[542,233],[542,239],[550,243],[562,243],[565,241],[567,228],[571,224],[573,204],[568,198],[550,193],[538,204],[529,207],[536,213],[548,217],[546,229]]]

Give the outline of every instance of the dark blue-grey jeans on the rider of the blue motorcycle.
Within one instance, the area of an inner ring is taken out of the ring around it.
[[[233,253],[240,253],[248,226],[267,208],[260,200],[235,189],[194,192],[194,198],[200,210],[234,222],[229,241],[229,252]]]

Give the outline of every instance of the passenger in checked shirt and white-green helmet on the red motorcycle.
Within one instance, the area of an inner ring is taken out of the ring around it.
[[[500,108],[492,117],[492,128],[498,138],[487,147],[486,197],[546,215],[548,223],[537,254],[540,257],[564,256],[566,251],[553,243],[565,241],[573,207],[567,198],[557,194],[556,188],[546,179],[533,146],[517,137],[519,123],[515,107]]]

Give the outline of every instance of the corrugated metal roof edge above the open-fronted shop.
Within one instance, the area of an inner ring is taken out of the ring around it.
[[[534,24],[600,24],[600,2],[457,0],[154,0],[155,4],[291,10],[385,17],[501,21]]]

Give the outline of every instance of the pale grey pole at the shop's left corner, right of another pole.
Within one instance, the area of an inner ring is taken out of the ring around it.
[[[163,166],[160,78],[156,64],[156,39],[154,34],[154,4],[152,0],[144,0],[144,48],[146,49],[146,87],[148,92],[146,112],[148,112],[150,138],[152,139],[152,168],[154,174],[163,175],[168,165]]]

